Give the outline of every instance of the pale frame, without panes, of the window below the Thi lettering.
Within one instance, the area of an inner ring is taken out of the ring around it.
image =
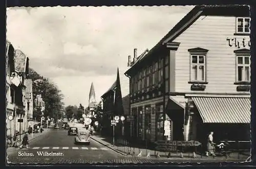
[[[238,63],[238,57],[242,57],[243,58],[243,63],[240,64]],[[245,57],[248,57],[249,58],[249,63],[248,64],[245,64]],[[251,67],[250,67],[250,64],[251,64],[251,56],[249,53],[237,53],[236,54],[236,82],[237,83],[243,83],[243,82],[250,82],[250,76],[251,76]],[[242,79],[241,81],[239,81],[239,77],[238,77],[238,66],[248,66],[249,67],[249,81],[246,81],[245,80],[245,68],[243,69],[243,72],[242,74],[244,74],[244,76],[242,76],[242,78],[244,77],[244,79]]]

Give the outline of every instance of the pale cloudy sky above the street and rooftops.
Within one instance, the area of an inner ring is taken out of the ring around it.
[[[7,39],[50,78],[66,105],[88,106],[94,83],[97,101],[126,68],[127,56],[152,47],[193,6],[37,7],[7,9]]]

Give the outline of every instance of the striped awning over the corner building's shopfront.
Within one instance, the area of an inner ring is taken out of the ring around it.
[[[192,97],[203,123],[250,123],[250,98]]]

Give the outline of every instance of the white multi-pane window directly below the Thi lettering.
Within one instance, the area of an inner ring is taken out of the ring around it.
[[[237,55],[237,81],[250,82],[250,56]]]

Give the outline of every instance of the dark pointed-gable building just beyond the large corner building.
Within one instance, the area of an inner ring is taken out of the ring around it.
[[[127,68],[126,68],[127,69]],[[126,69],[117,68],[117,76],[113,85],[106,91],[101,99],[103,101],[103,130],[112,135],[113,127],[111,126],[111,120],[114,116],[126,116],[129,115],[130,105],[130,88],[129,78],[124,75]],[[130,125],[126,121],[117,123],[115,133],[117,135],[126,135],[130,133]]]

